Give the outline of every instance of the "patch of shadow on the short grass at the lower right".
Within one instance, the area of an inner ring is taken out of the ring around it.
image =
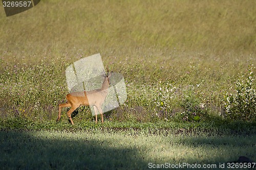
[[[205,152],[205,156],[201,157],[200,161],[208,165],[214,164],[217,169],[256,169],[255,137],[255,134],[222,137],[193,136],[182,139],[181,143]],[[196,162],[194,160],[194,163]]]

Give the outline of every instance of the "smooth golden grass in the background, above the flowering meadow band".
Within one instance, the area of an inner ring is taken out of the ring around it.
[[[96,51],[109,56],[152,47],[251,54],[256,43],[254,6],[252,0],[41,1],[12,17],[1,12],[2,50],[65,54],[75,47],[86,55]]]

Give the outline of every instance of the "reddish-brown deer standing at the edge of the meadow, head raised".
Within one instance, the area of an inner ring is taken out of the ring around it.
[[[71,107],[67,112],[67,115],[70,119],[72,125],[74,122],[72,120],[71,114],[76,108],[80,106],[93,106],[95,112],[95,122],[98,123],[97,114],[101,114],[101,123],[103,123],[103,112],[102,112],[102,104],[105,101],[106,95],[108,95],[109,87],[110,87],[110,78],[112,76],[113,71],[109,74],[109,69],[107,68],[107,74],[104,74],[104,80],[100,89],[91,90],[91,91],[75,91],[66,95],[67,103],[59,104],[59,114],[56,122],[60,120],[61,108]],[[88,98],[90,100],[88,100]]]

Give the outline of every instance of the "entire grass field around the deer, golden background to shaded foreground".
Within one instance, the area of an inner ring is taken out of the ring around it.
[[[225,110],[237,80],[246,82],[248,68],[255,72],[255,6],[49,0],[10,17],[0,8],[0,165],[145,169],[151,161],[255,161],[256,113],[243,121]],[[72,115],[74,126],[67,109],[56,124],[68,93],[65,69],[97,53],[124,76],[127,101],[105,113],[104,124],[95,125],[86,107]]]

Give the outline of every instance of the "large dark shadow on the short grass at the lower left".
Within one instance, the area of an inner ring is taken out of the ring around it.
[[[2,169],[145,169],[134,148],[111,147],[108,140],[0,131]],[[118,141],[116,141],[118,142]]]

